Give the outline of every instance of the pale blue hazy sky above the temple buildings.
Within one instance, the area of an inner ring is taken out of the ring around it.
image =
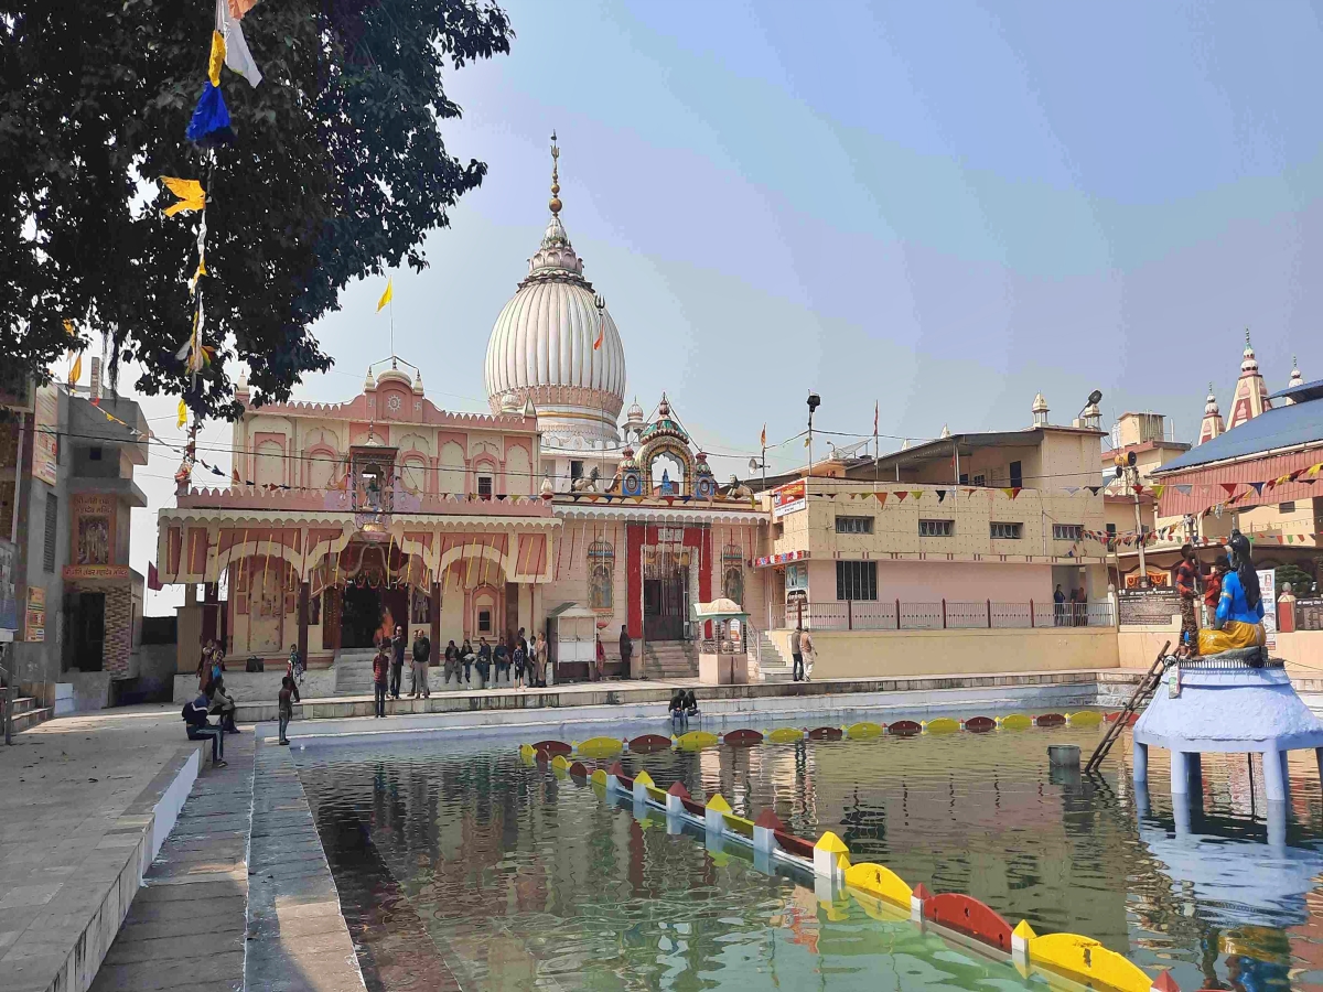
[[[1224,413],[1253,335],[1270,390],[1323,378],[1319,8],[803,3],[505,4],[509,56],[450,73],[451,153],[490,172],[394,274],[394,351],[429,395],[486,410],[492,324],[561,218],[620,329],[626,402],[663,390],[718,477],[767,425],[900,438]],[[257,24],[257,21],[254,21]],[[296,397],[348,399],[388,357],[384,279],[316,328]],[[130,377],[131,378],[131,377]],[[175,399],[146,398],[179,438]],[[224,444],[229,426],[202,431]],[[845,443],[848,439],[837,438]],[[220,452],[202,452],[229,472]],[[769,451],[769,471],[803,458]],[[139,471],[131,562],[155,559],[177,455]],[[194,479],[201,483],[201,470]],[[149,595],[168,612],[180,590]]]

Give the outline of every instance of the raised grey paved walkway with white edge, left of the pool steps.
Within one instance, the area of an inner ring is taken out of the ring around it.
[[[173,704],[13,741],[0,745],[0,988],[81,992],[151,860],[152,809],[197,745]]]

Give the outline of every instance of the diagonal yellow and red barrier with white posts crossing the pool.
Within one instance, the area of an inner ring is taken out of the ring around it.
[[[557,755],[557,759],[564,762],[564,755]],[[568,767],[586,771],[577,762]],[[1091,938],[1078,934],[1040,936],[1027,921],[1020,921],[1012,930],[1002,914],[972,895],[934,895],[922,882],[912,889],[885,865],[871,861],[852,865],[849,848],[831,831],[824,832],[816,843],[795,837],[786,833],[785,825],[771,809],[765,809],[755,820],[747,820],[737,816],[720,794],[714,792],[706,803],[699,803],[689,796],[683,783],[676,782],[663,791],[646,770],[630,778],[619,762],[606,771],[597,768],[590,778],[594,787],[609,799],[613,795],[630,798],[636,811],[640,807],[658,811],[668,823],[687,823],[703,829],[709,837],[716,835],[753,848],[754,865],[758,865],[759,856],[766,856],[811,876],[814,890],[827,906],[830,917],[833,911],[840,911],[839,898],[848,894],[869,917],[886,922],[906,918],[923,921],[925,925],[975,942],[990,956],[1009,956],[1025,975],[1040,968],[1045,975],[1062,975],[1094,989],[1180,992],[1170,972],[1163,971],[1156,979],[1151,977],[1129,958],[1107,950]]]

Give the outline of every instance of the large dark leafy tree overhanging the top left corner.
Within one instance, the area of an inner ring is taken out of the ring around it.
[[[0,354],[38,378],[71,319],[103,335],[112,377],[138,360],[142,392],[187,389],[175,352],[192,327],[197,214],[163,217],[173,197],[156,179],[204,173],[184,131],[212,11],[0,0]],[[220,360],[187,393],[228,418],[226,361],[249,365],[255,402],[287,399],[329,368],[310,327],[351,280],[426,266],[423,235],[487,172],[442,142],[438,123],[460,112],[443,69],[513,37],[492,0],[262,0],[242,26],[265,79],[221,82],[235,140],[210,179],[205,282]]]

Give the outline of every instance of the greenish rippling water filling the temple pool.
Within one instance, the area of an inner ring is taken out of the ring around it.
[[[1129,738],[1099,779],[1049,770],[1049,742],[1088,757],[1101,734],[716,746],[622,763],[662,788],[718,791],[744,816],[771,807],[808,839],[835,831],[856,864],[968,893],[1012,926],[1093,936],[1150,975],[1171,968],[1184,992],[1323,987],[1312,755],[1291,762],[1286,845],[1269,847],[1257,761],[1205,757],[1200,836],[1177,836],[1162,753],[1148,803],[1129,778]],[[811,878],[767,876],[733,845],[709,850],[663,817],[640,821],[521,762],[517,739],[392,739],[295,755],[369,989],[1027,984],[894,913],[853,898],[823,907]]]

